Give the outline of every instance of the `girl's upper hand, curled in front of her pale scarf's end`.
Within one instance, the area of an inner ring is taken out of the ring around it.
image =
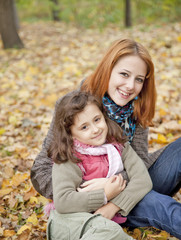
[[[114,175],[108,179],[105,184],[104,192],[106,194],[107,200],[111,200],[116,197],[120,192],[122,192],[126,187],[126,181],[123,179],[122,175]]]

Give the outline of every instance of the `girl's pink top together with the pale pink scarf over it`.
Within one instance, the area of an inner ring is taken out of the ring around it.
[[[109,178],[123,171],[122,150],[123,146],[119,143],[91,146],[74,140],[74,154],[82,160],[78,166],[83,173],[84,180]]]

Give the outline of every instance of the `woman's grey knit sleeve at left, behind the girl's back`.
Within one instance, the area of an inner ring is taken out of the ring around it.
[[[53,141],[53,125],[55,112],[57,105],[61,101],[61,98],[57,100],[55,104],[55,110],[53,114],[53,119],[50,124],[47,136],[45,137],[42,149],[40,153],[35,158],[33,166],[31,168],[31,181],[36,189],[41,195],[46,198],[53,199],[53,190],[52,190],[52,159],[48,157],[48,149]]]

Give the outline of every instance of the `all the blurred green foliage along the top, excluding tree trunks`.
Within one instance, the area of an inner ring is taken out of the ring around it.
[[[51,20],[52,10],[59,17],[79,27],[104,28],[109,24],[124,26],[124,0],[16,0],[20,19],[25,21]],[[179,21],[181,0],[132,0],[132,22],[160,23]]]

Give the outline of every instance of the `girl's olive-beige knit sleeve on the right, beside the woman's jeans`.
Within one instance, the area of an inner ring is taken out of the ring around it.
[[[126,188],[111,202],[120,207],[120,213],[123,216],[127,216],[135,205],[152,189],[152,181],[145,164],[129,143],[125,144],[122,160],[130,181]]]

